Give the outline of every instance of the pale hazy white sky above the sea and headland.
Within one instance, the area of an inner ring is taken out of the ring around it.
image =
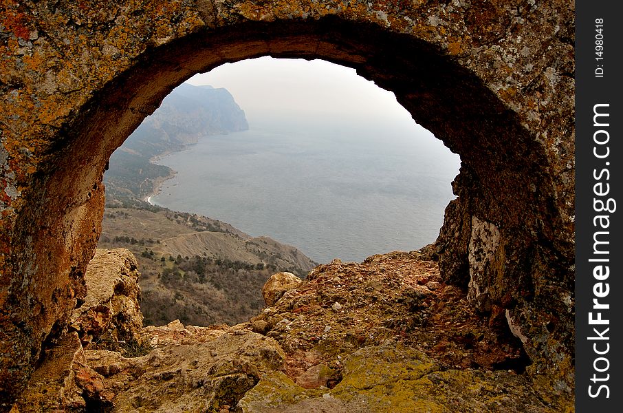
[[[250,123],[269,114],[411,119],[392,92],[358,76],[354,69],[321,60],[266,56],[226,63],[188,83],[225,87]]]

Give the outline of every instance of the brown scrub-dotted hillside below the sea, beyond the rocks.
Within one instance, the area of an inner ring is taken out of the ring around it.
[[[137,257],[146,324],[248,321],[263,308],[261,288],[270,275],[305,277],[316,266],[270,237],[251,237],[200,215],[151,209],[107,208],[99,242]]]

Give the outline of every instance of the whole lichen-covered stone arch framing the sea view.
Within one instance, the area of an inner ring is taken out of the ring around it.
[[[572,383],[572,5],[83,3],[5,10],[1,403],[85,294],[113,150],[186,78],[263,55],[355,67],[461,155],[441,271]]]

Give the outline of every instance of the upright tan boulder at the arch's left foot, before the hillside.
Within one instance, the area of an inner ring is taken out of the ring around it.
[[[136,258],[127,249],[96,251],[85,273],[87,297],[70,321],[86,348],[113,350],[120,341],[142,341],[139,279]]]

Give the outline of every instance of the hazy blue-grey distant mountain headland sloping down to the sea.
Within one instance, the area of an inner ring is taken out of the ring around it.
[[[104,175],[109,206],[136,206],[174,171],[153,158],[182,150],[201,136],[249,128],[227,89],[183,83],[113,153]]]

